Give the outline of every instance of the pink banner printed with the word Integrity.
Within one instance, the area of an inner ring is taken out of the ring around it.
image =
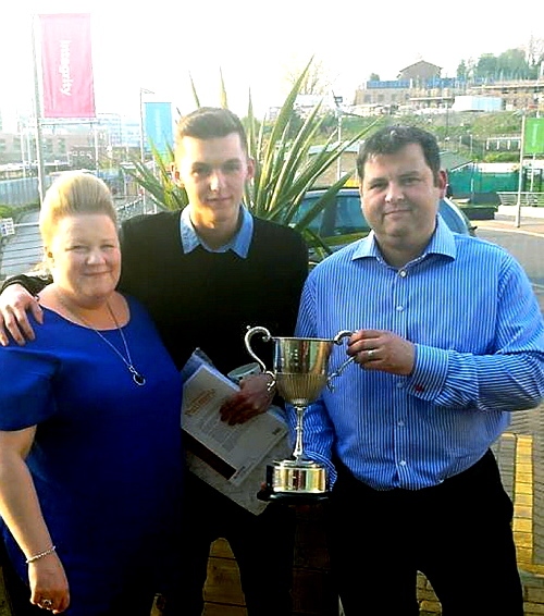
[[[44,118],[95,118],[90,15],[39,15]]]

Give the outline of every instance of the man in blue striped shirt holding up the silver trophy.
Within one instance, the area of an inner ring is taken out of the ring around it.
[[[490,446],[510,411],[544,396],[536,298],[507,251],[438,215],[447,177],[431,134],[383,128],[357,171],[372,232],[311,272],[297,324],[304,337],[355,332],[355,361],[310,406],[304,433],[333,484],[344,609],[417,615],[419,570],[444,615],[521,616],[512,503]]]

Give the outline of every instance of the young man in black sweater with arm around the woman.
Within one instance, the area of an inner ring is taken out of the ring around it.
[[[178,368],[196,347],[223,372],[248,362],[248,327],[293,335],[308,250],[298,233],[256,219],[242,205],[254,165],[239,119],[200,108],[180,120],[176,133],[175,177],[189,205],[123,224],[120,287],[148,308]],[[34,291],[33,281],[26,283]],[[21,285],[4,293],[3,325],[22,344],[34,336],[25,310],[38,320],[41,311]],[[0,319],[0,343],[7,342]],[[271,346],[256,342],[260,357],[270,357]],[[244,422],[264,412],[267,384],[267,375],[245,380],[221,409],[223,420]],[[200,616],[210,544],[223,537],[237,559],[248,615],[290,615],[292,508],[270,503],[254,515],[190,472],[185,494],[183,571],[164,614]]]

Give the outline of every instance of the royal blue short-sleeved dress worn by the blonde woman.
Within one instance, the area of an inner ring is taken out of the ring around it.
[[[141,386],[95,331],[52,310],[35,342],[0,347],[0,430],[37,426],[26,463],[66,571],[70,616],[107,614],[129,589],[160,590],[166,552],[180,560],[182,382],[149,316],[127,300],[123,332]],[[101,334],[125,355],[119,331]]]

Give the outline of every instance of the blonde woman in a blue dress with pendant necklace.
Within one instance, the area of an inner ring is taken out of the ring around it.
[[[145,309],[115,291],[106,184],[63,174],[40,232],[44,327],[0,347],[7,551],[28,614],[148,616],[180,560],[181,379]]]

